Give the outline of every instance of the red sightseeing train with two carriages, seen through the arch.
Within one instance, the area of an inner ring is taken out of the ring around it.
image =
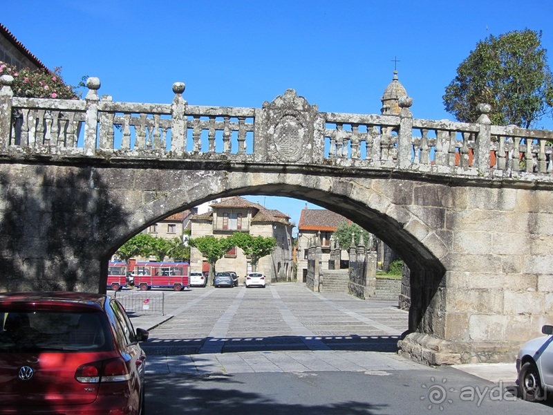
[[[190,286],[189,275],[187,262],[136,262],[131,259],[128,268],[125,262],[109,263],[107,286],[114,291],[123,286],[136,286],[144,291],[152,287],[181,291]]]

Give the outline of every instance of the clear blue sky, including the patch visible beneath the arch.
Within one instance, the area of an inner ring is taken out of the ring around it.
[[[553,65],[552,16],[550,0],[18,0],[0,22],[68,84],[99,77],[114,101],[169,103],[180,81],[189,104],[261,107],[292,88],[320,111],[379,113],[397,57],[413,117],[453,120],[442,95],[478,41],[542,30]],[[251,200],[296,223],[305,206]]]

